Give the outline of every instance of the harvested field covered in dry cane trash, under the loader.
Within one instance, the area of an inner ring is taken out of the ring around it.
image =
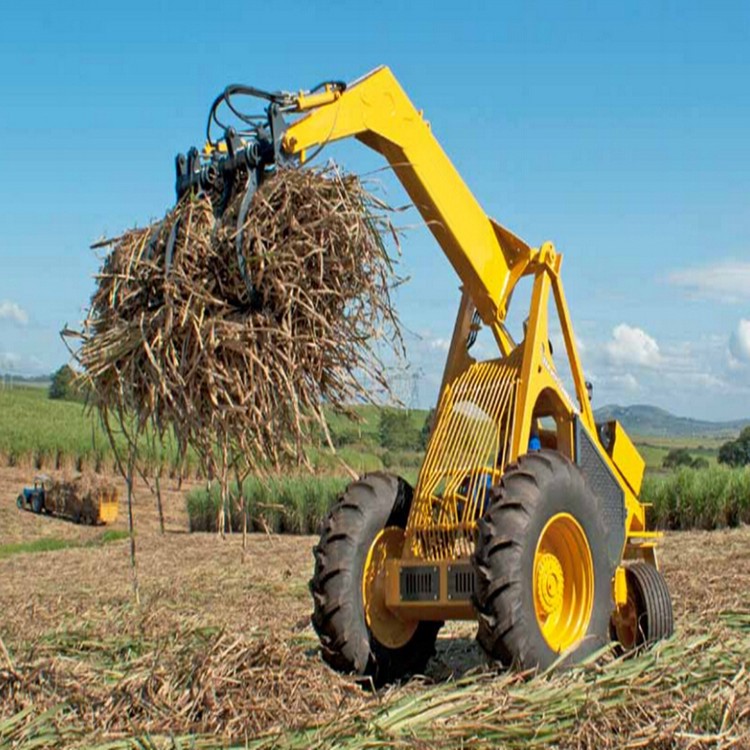
[[[101,533],[16,510],[25,479],[0,471],[0,545]],[[137,489],[140,607],[125,541],[0,560],[0,747],[750,743],[750,528],[667,536],[678,636],[649,655],[523,682],[485,672],[473,626],[452,624],[431,684],[373,695],[318,656],[313,537],[252,535],[243,562],[238,536],[185,533],[172,486],[161,536]]]

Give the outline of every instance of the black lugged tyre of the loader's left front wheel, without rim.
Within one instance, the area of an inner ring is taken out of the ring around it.
[[[339,498],[313,548],[312,623],[323,659],[339,672],[367,678],[374,687],[422,672],[443,624],[404,622],[384,604],[381,619],[368,623],[372,610],[365,607],[366,566],[384,535],[403,539],[412,492],[400,477],[366,474]]]

